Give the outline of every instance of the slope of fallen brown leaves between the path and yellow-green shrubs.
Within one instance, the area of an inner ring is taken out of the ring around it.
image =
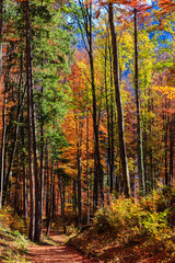
[[[131,243],[125,243],[115,232],[100,235],[90,230],[75,236],[69,243],[93,258],[95,262],[175,262],[175,254],[172,251],[165,251],[162,242],[152,243],[143,237]]]

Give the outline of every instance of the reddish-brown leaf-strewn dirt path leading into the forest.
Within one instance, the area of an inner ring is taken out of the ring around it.
[[[68,263],[91,263],[84,255],[78,252],[75,249],[65,244],[65,236],[57,235],[55,231],[50,231],[49,238],[58,242],[57,245],[52,244],[42,244],[32,245],[30,248],[30,260],[34,263],[57,263],[57,262],[68,262]]]

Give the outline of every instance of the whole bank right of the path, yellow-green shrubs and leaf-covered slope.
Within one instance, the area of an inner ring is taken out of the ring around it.
[[[175,262],[175,186],[147,197],[110,199],[98,209],[93,227],[72,239],[104,262]],[[148,260],[149,259],[149,260]],[[140,260],[140,261],[138,261]],[[113,262],[113,261],[112,261]]]

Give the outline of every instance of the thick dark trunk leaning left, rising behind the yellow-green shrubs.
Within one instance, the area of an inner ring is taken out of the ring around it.
[[[108,20],[109,20],[112,46],[113,46],[114,82],[115,82],[115,95],[116,95],[116,104],[117,104],[117,113],[118,113],[118,135],[119,135],[122,180],[124,180],[124,193],[126,196],[130,196],[130,178],[129,178],[126,142],[125,142],[124,113],[122,113],[122,103],[121,103],[121,94],[120,94],[120,87],[119,87],[119,72],[118,72],[118,48],[117,48],[117,39],[116,39],[115,25],[114,25],[113,3],[109,3],[108,7],[109,7]]]

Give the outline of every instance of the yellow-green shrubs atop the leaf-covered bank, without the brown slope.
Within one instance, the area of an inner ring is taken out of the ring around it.
[[[97,231],[115,230],[127,240],[148,236],[152,240],[172,239],[168,222],[175,215],[175,187],[158,190],[139,201],[113,197],[110,204],[96,211],[94,227]],[[127,238],[126,238],[127,237]]]

